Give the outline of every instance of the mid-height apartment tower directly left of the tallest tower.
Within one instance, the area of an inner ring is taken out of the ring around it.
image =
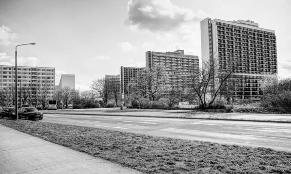
[[[192,83],[191,71],[199,72],[198,56],[185,55],[184,50],[174,52],[146,52],[146,67],[163,64],[169,75],[169,85],[173,91],[190,89]]]

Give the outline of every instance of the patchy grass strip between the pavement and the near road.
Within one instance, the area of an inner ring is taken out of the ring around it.
[[[146,174],[291,174],[291,153],[81,126],[0,119],[0,124]]]

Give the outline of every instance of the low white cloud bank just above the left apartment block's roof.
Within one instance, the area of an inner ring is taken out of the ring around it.
[[[17,57],[17,66],[38,66],[40,60],[34,57]],[[15,66],[15,57],[7,56],[6,53],[0,53],[0,65]]]

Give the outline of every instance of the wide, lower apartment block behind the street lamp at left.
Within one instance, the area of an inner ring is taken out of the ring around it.
[[[0,89],[5,92],[15,88],[15,66],[0,65]],[[17,66],[17,87],[30,90],[46,85],[47,97],[52,99],[55,89],[55,68]],[[23,92],[21,92],[23,93]],[[20,95],[18,95],[20,98]],[[36,94],[32,94],[35,98]],[[20,100],[20,99],[18,99]]]

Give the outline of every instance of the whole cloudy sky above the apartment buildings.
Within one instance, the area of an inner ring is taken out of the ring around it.
[[[120,66],[145,67],[146,51],[201,58],[200,21],[252,20],[275,30],[278,75],[291,77],[291,0],[0,0],[0,65],[54,67],[89,90]],[[201,60],[201,59],[200,59]]]

